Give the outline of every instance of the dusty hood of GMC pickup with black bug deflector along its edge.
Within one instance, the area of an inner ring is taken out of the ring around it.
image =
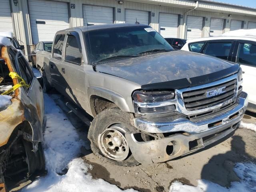
[[[143,89],[177,89],[212,82],[239,70],[238,64],[187,51],[110,60],[96,71],[140,84]]]

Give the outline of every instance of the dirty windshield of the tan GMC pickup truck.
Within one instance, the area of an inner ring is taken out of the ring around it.
[[[172,51],[168,42],[150,26],[107,28],[84,32],[89,62],[151,50]],[[152,52],[151,52],[152,53]]]

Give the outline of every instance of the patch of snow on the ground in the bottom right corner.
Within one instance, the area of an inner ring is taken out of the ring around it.
[[[256,191],[256,164],[236,163],[234,172],[241,179],[232,182],[230,188],[222,187],[208,180],[198,180],[198,186],[183,185],[173,182],[170,192],[255,192]]]

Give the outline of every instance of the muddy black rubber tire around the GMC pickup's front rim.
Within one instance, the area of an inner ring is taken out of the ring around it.
[[[119,108],[108,108],[100,112],[92,121],[92,124],[88,131],[88,139],[91,142],[92,152],[109,162],[117,164],[119,166],[138,166],[139,163],[134,159],[132,153],[129,149],[128,157],[122,161],[115,161],[110,158],[107,158],[102,154],[98,146],[98,136],[104,132],[107,128],[115,124],[122,125],[122,128],[125,129],[126,132],[134,131],[135,128],[130,123],[130,115],[126,112],[122,112]]]

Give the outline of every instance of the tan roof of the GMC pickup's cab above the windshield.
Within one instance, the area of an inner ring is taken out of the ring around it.
[[[116,28],[116,27],[128,27],[128,26],[148,26],[145,24],[128,24],[128,23],[120,23],[120,24],[103,24],[103,25],[90,25],[90,26],[80,26],[80,27],[74,27],[81,29],[82,31],[91,31],[91,30],[97,30],[97,29],[106,29],[106,28]],[[65,30],[60,30],[57,33],[69,31],[74,28],[67,28]]]

